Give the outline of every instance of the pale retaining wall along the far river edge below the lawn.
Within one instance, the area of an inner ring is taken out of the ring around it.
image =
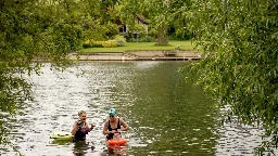
[[[79,61],[191,61],[201,56],[191,50],[140,50],[126,52],[73,52],[71,60]]]

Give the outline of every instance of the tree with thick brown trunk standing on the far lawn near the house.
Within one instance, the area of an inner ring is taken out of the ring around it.
[[[134,24],[137,14],[146,16],[151,27],[157,29],[157,44],[168,43],[168,25],[174,23],[176,10],[184,2],[181,0],[123,0],[122,18],[128,24]]]

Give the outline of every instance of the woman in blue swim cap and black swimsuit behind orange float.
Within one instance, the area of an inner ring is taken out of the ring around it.
[[[128,125],[119,117],[116,117],[116,110],[111,108],[109,110],[109,119],[106,119],[103,127],[103,134],[106,135],[108,140],[111,140],[113,139],[114,133],[121,133],[121,131],[127,130],[129,130]]]

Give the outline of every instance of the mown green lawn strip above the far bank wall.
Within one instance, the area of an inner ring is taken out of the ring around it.
[[[130,50],[174,50],[176,46],[181,46],[181,50],[192,50],[193,46],[190,40],[168,41],[168,46],[155,46],[156,42],[127,42],[125,47],[116,48],[88,48],[80,52],[125,52]]]

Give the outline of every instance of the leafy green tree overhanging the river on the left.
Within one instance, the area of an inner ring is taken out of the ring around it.
[[[86,11],[94,0],[0,1],[0,144],[9,143],[11,115],[31,100],[26,75],[40,74],[41,64],[63,69],[66,55],[80,49]],[[84,11],[84,12],[81,12]],[[96,10],[96,12],[98,12]],[[3,119],[4,118],[4,119]]]

